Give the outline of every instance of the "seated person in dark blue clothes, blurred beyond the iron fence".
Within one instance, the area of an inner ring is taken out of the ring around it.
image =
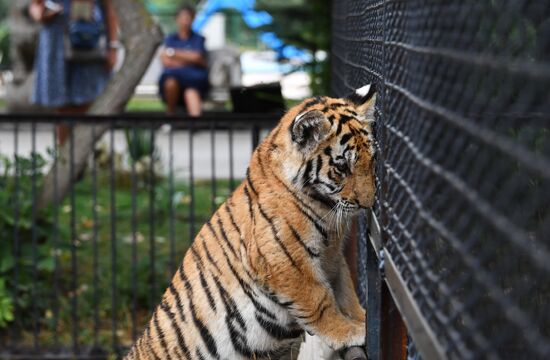
[[[191,30],[194,17],[195,10],[190,6],[178,11],[178,31],[166,37],[160,55],[164,71],[159,91],[168,114],[174,114],[178,105],[185,105],[189,116],[200,116],[202,98],[208,91],[204,37]]]

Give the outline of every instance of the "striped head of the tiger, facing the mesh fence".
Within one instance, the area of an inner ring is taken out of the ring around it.
[[[374,86],[334,99],[315,97],[290,109],[277,138],[286,148],[280,159],[296,191],[327,207],[355,213],[375,196]]]

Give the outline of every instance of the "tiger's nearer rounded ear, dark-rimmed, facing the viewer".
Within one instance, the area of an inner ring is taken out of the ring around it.
[[[330,131],[330,122],[319,110],[296,116],[290,128],[292,141],[301,150],[311,151]]]

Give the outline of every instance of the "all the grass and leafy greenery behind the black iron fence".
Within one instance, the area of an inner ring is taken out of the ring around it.
[[[144,131],[143,135],[147,138],[148,134],[148,131]],[[140,150],[142,155],[150,153],[152,149],[151,144],[147,145],[146,142],[147,139]],[[50,152],[51,158],[52,155]],[[138,153],[135,155],[141,156]],[[174,265],[178,265],[191,243],[189,183],[176,178],[174,193],[171,194],[168,179],[156,170],[157,178],[151,190],[146,168],[145,174],[137,177],[136,192],[133,193],[131,174],[127,169],[120,168],[115,174],[116,214],[113,214],[109,169],[103,168],[96,158],[98,168],[95,206],[91,196],[94,186],[88,173],[88,176],[85,174],[74,185],[74,211],[69,197],[59,206],[52,205],[38,213],[33,226],[32,177],[34,175],[36,193],[39,193],[42,174],[50,166],[50,157],[44,158],[37,154],[17,157],[14,161],[0,155],[0,239],[5,239],[0,251],[0,338],[9,335],[10,321],[16,312],[17,323],[22,329],[22,345],[30,344],[28,340],[32,339],[35,321],[40,328],[40,342],[44,346],[52,345],[54,329],[58,330],[62,344],[70,343],[69,309],[72,298],[77,296],[81,330],[79,339],[82,343],[89,344],[92,338],[94,311],[97,309],[100,319],[111,318],[116,313],[120,341],[129,345],[130,314],[134,299],[138,327],[141,328],[173,273],[169,266],[171,206],[174,209]],[[19,175],[17,179],[13,176],[16,169]],[[216,187],[214,200],[219,205],[229,194],[229,182],[220,180]],[[154,191],[152,206],[151,191]],[[195,232],[210,217],[213,210],[212,197],[210,182],[195,181]],[[135,228],[132,226],[133,219]],[[71,231],[73,221],[75,236]],[[115,238],[112,237],[111,225],[115,227]],[[154,231],[151,225],[154,226]],[[32,241],[33,231],[36,235],[36,247]],[[15,234],[18,239],[16,248],[13,240]],[[117,252],[114,272],[111,268],[113,244]],[[153,269],[149,254],[152,246],[155,249],[154,274],[157,279],[154,289],[157,296],[154,299],[151,299],[153,289],[150,282]],[[135,274],[132,267],[134,249],[137,254]],[[93,271],[94,254],[97,254],[97,277]],[[73,256],[77,260],[76,273],[72,269]],[[76,276],[76,289],[72,284],[73,276]],[[116,282],[117,309],[112,307],[110,301],[113,282]],[[56,308],[59,310],[57,323],[53,321]],[[98,338],[100,345],[110,344],[111,331],[110,322],[101,320]]]

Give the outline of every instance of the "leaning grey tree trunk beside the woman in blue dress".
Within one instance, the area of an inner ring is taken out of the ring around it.
[[[163,39],[161,29],[153,22],[141,1],[112,1],[118,16],[121,41],[126,54],[122,68],[113,76],[105,91],[92,105],[89,113],[93,115],[116,114],[124,110],[126,103],[134,93],[135,87],[139,84]],[[90,125],[75,125],[73,129],[73,175],[79,174],[84,169],[96,141],[101,138],[108,128],[108,124],[98,124],[95,127],[94,137]],[[73,181],[70,176],[70,162],[68,161],[71,155],[70,143],[70,140],[67,141],[60,149],[57,165],[52,166],[44,179],[44,186],[38,203],[39,209],[43,209],[56,200],[54,198],[55,186],[57,186],[58,201],[61,201],[67,194]],[[56,171],[57,184],[53,181]]]

